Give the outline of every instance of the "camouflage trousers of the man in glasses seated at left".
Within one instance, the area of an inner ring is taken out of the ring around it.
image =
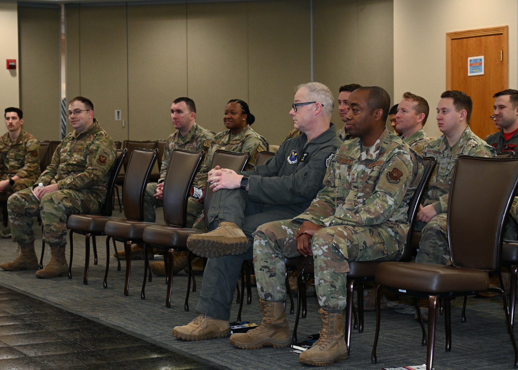
[[[12,194],[7,201],[13,239],[22,244],[35,239],[33,217],[40,216],[43,240],[49,245],[65,245],[67,219],[70,215],[97,214],[99,195],[84,190],[58,190],[45,194],[39,202],[31,189]]]

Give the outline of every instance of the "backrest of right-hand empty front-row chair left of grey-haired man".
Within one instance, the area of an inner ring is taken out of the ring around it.
[[[185,227],[187,200],[205,152],[175,149],[167,166],[164,181],[164,221],[171,226]]]

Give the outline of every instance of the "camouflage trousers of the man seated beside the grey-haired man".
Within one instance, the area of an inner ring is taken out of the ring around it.
[[[297,229],[291,220],[282,220],[263,224],[253,233],[255,280],[265,301],[282,302],[286,298],[284,258],[300,255]],[[349,261],[393,261],[400,257],[404,245],[389,253],[384,233],[376,226],[341,225],[324,227],[313,235],[316,296],[324,310],[342,312],[346,308]]]

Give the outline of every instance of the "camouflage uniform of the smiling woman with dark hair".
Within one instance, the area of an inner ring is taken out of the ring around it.
[[[232,135],[230,130],[219,132],[214,136],[212,146],[194,179],[193,186],[198,188],[207,187],[207,174],[212,169],[212,157],[216,150],[241,153],[250,152],[250,161],[245,169],[253,169],[257,154],[268,151],[268,149],[268,141],[252,130],[248,124],[236,135]],[[187,201],[187,218],[195,220],[193,225],[194,229],[205,230],[203,203],[198,202],[196,198],[190,197]]]

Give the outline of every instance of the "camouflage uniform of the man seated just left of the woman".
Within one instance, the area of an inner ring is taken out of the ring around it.
[[[162,159],[162,166],[160,168],[160,178],[158,183],[161,183],[165,180],[167,167],[169,166],[169,161],[171,159],[173,150],[204,150],[205,154],[207,155],[207,151],[212,144],[212,140],[214,140],[214,133],[202,126],[199,126],[196,122],[194,122],[188,134],[183,137],[180,135],[180,131],[176,131],[175,133],[169,135],[165,143],[164,158]],[[162,200],[153,196],[156,193],[156,185],[158,183],[150,182],[146,187],[146,193],[144,195],[144,221],[146,222],[155,222],[155,207],[163,206]],[[195,217],[190,217],[188,215],[187,227],[192,227],[194,220]]]

